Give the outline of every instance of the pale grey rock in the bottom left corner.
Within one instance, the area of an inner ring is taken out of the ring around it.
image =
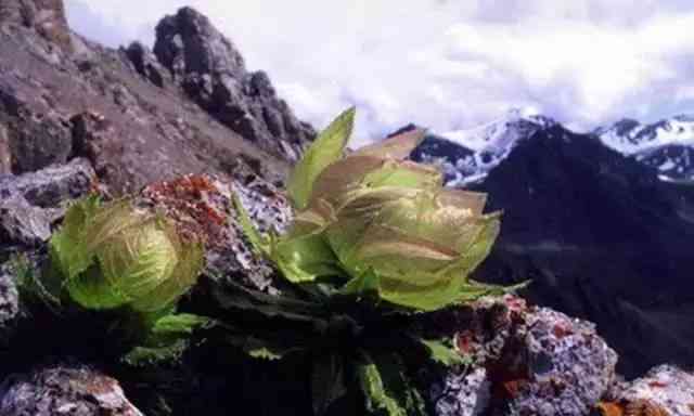
[[[0,416],[142,416],[117,380],[85,366],[50,366],[5,380]]]

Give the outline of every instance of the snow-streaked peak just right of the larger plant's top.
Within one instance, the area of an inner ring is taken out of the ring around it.
[[[512,109],[484,126],[432,133],[413,158],[440,166],[447,184],[461,186],[483,180],[519,141],[555,125],[551,118]]]

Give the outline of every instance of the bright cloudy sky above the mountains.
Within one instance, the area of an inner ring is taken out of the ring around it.
[[[414,122],[472,128],[511,108],[577,131],[694,113],[691,0],[65,0],[110,47],[154,42],[190,5],[324,127],[356,105],[355,142]]]

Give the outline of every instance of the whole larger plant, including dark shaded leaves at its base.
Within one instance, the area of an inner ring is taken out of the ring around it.
[[[260,234],[235,199],[248,240],[296,290],[223,296],[228,309],[244,312],[229,323],[230,341],[256,358],[308,353],[316,414],[339,407],[356,385],[373,414],[424,415],[408,368],[421,366],[417,356],[445,366],[463,358],[451,334],[432,334],[422,320],[511,289],[468,277],[497,237],[500,213],[483,213],[484,194],[445,188],[439,171],[407,160],[422,130],[345,155],[354,117],[354,109],[337,117],[295,167],[287,185],[295,217],[284,233]],[[247,324],[252,313],[265,321]]]

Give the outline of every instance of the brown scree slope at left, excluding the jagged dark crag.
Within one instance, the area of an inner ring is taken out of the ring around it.
[[[1,8],[0,172],[85,156],[114,194],[183,173],[229,177],[241,161],[262,160],[258,173],[272,182],[285,177],[288,157],[261,150],[179,88],[166,88],[168,70],[145,48],[111,50],[66,27],[72,48],[64,48],[29,24],[53,16],[51,27],[63,27],[57,0]]]

